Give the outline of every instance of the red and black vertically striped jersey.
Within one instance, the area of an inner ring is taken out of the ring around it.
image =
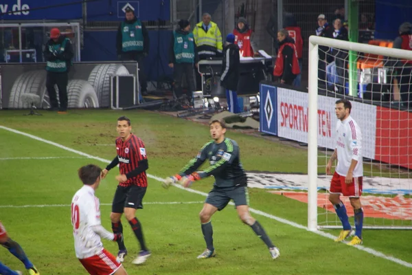
[[[127,174],[135,170],[139,166],[139,161],[147,159],[146,148],[143,141],[134,135],[130,134],[127,140],[122,141],[121,137],[116,140],[117,158],[119,159],[120,174]],[[148,186],[148,177],[146,171],[140,173],[136,177],[128,179],[126,182],[120,182],[119,186]]]

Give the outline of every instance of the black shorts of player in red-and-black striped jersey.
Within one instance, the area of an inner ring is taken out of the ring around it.
[[[147,187],[140,186],[117,186],[112,203],[113,213],[123,213],[126,207],[143,208],[143,198]]]

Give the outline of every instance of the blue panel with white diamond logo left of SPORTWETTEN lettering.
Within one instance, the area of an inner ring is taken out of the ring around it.
[[[277,87],[260,84],[260,131],[277,135]]]

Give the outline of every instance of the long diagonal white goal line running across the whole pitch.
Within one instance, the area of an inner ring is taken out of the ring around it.
[[[38,140],[38,141],[40,141],[40,142],[45,142],[45,143],[47,143],[47,144],[51,144],[51,145],[56,146],[56,147],[58,147],[58,148],[62,148],[62,149],[64,149],[64,150],[66,150],[66,151],[69,151],[69,152],[72,152],[72,153],[76,153],[76,154],[82,155],[82,156],[84,156],[84,157],[89,157],[89,158],[91,158],[91,159],[99,160],[100,162],[111,163],[111,161],[108,160],[108,159],[103,159],[102,157],[95,157],[95,156],[93,156],[93,155],[89,155],[89,154],[87,154],[87,153],[83,153],[83,152],[81,152],[81,151],[77,151],[77,150],[75,150],[75,149],[69,148],[69,147],[64,146],[64,145],[62,145],[62,144],[58,144],[58,143],[52,142],[52,141],[50,141],[50,140],[45,140],[45,139],[43,139],[43,138],[41,138],[41,137],[37,137],[36,135],[31,135],[31,134],[29,134],[29,133],[24,133],[24,132],[21,132],[21,131],[18,131],[18,130],[14,130],[14,129],[11,129],[11,128],[8,128],[8,127],[5,127],[5,126],[1,126],[1,125],[0,125],[0,129],[4,129],[4,130],[10,131],[10,132],[12,132],[12,133],[17,133],[17,134],[19,134],[19,135],[24,135],[25,137],[30,137],[30,138],[32,138],[32,139],[34,139],[34,140]],[[161,177],[157,177],[157,176],[155,176],[155,175],[150,175],[150,174],[147,174],[147,175],[148,175],[148,177],[150,177],[151,179],[156,179],[157,181],[163,182],[163,179],[162,179]],[[202,195],[202,196],[204,196],[204,197],[207,197],[207,195],[208,195],[207,193],[201,192],[201,191],[198,191],[198,190],[193,190],[193,189],[189,189],[189,188],[183,188],[183,186],[180,186],[180,185],[178,185],[178,184],[174,184],[174,186],[176,186],[177,188],[180,188],[180,189],[182,189],[182,190],[186,190],[187,192],[192,192],[192,193],[195,193],[195,194],[198,194],[198,195]],[[233,205],[233,203],[230,203],[230,204]],[[268,213],[266,213],[266,212],[262,212],[262,211],[260,211],[260,210],[256,210],[256,209],[253,209],[253,208],[249,208],[249,210],[250,210],[251,212],[255,213],[255,214],[259,214],[259,215],[261,215],[261,216],[263,216],[263,217],[266,217],[266,218],[268,218],[268,219],[273,219],[273,220],[275,220],[275,221],[279,221],[280,223],[285,223],[285,224],[287,224],[287,225],[293,226],[294,228],[299,228],[299,229],[302,229],[302,230],[306,230],[306,231],[308,231],[308,232],[312,232],[312,233],[314,233],[314,234],[318,234],[318,235],[320,235],[320,236],[324,236],[325,238],[328,238],[328,239],[335,239],[335,238],[336,238],[336,236],[334,236],[334,235],[332,235],[332,234],[325,233],[325,232],[322,232],[322,231],[319,231],[319,230],[317,230],[317,231],[311,231],[311,230],[309,230],[309,228],[307,228],[307,227],[304,226],[304,225],[301,225],[301,224],[299,224],[299,223],[295,223],[295,222],[293,222],[293,221],[289,221],[289,220],[287,220],[287,219],[283,219],[283,218],[281,218],[281,217],[274,216],[273,214],[268,214]],[[354,246],[354,248],[356,248],[356,249],[358,249],[358,250],[365,251],[365,252],[367,252],[367,253],[369,253],[369,254],[372,254],[372,255],[374,255],[374,256],[380,257],[380,258],[382,258],[382,259],[387,259],[387,260],[392,261],[392,262],[394,262],[394,263],[398,263],[399,265],[403,265],[404,267],[410,267],[410,268],[412,268],[412,263],[408,263],[407,261],[402,261],[401,259],[398,259],[398,258],[395,258],[395,257],[392,257],[392,256],[387,256],[387,255],[383,254],[382,252],[378,252],[378,251],[373,250],[373,249],[371,249],[371,248],[367,248],[367,247],[365,247],[365,246],[363,246],[363,245],[356,245],[356,246]]]

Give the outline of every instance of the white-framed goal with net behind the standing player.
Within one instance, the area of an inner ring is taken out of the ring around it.
[[[335,102],[346,98],[363,137],[364,228],[412,229],[412,51],[318,36],[309,47],[308,227],[342,228],[325,167],[336,146]],[[341,199],[353,226],[350,200]]]

